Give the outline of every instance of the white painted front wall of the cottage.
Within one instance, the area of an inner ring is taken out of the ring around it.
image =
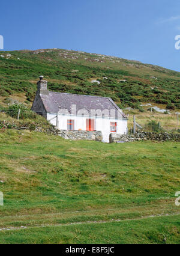
[[[53,120],[51,120],[55,117]],[[67,120],[74,120],[74,130],[86,130],[86,119],[89,117],[82,117],[77,115],[58,115],[59,126],[60,130],[67,130]],[[94,117],[91,118],[95,120],[95,130],[101,131],[103,134],[103,142],[109,142],[109,135],[110,135],[110,122],[117,123],[117,132],[119,134],[126,134],[127,133],[127,120],[124,119],[113,119],[113,118],[101,118],[101,117]],[[54,113],[47,113],[47,120],[51,120],[54,126],[56,126],[56,114]]]

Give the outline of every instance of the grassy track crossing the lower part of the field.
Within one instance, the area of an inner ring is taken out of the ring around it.
[[[171,200],[172,201],[172,200]],[[101,223],[111,222],[112,220],[130,220],[142,219],[156,216],[173,216],[179,215],[178,207],[169,207],[172,203],[170,200],[167,203],[134,206],[115,209],[96,209],[86,211],[61,212],[61,213],[44,213],[39,215],[15,215],[3,216],[1,218],[0,230],[20,229],[20,227],[48,227],[50,225],[64,225],[76,223]]]

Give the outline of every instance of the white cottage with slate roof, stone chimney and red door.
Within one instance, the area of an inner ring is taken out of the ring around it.
[[[127,117],[112,99],[48,91],[43,76],[31,109],[60,130],[101,131],[103,142],[109,142],[110,133],[127,133]]]

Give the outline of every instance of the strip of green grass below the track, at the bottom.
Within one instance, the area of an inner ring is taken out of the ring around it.
[[[179,243],[178,216],[2,231],[1,243]]]

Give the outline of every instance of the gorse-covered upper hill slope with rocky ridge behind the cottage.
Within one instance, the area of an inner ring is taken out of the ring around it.
[[[0,52],[0,104],[13,94],[30,105],[39,75],[49,81],[51,91],[112,97],[121,108],[142,109],[146,102],[180,109],[179,72],[62,49]]]

